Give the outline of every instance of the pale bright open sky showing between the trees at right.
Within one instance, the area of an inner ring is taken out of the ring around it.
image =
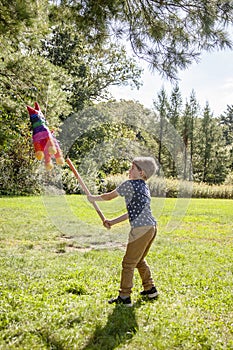
[[[139,90],[129,86],[113,86],[110,92],[116,100],[134,100],[152,109],[153,100],[157,99],[161,88],[165,88],[169,97],[173,86],[157,72],[152,73],[146,62],[140,61],[139,65],[144,69],[143,86]],[[194,62],[186,70],[179,71],[178,78],[184,103],[194,90],[201,108],[208,102],[215,117],[226,111],[227,105],[233,105],[233,51],[229,49],[203,52],[198,63]]]

